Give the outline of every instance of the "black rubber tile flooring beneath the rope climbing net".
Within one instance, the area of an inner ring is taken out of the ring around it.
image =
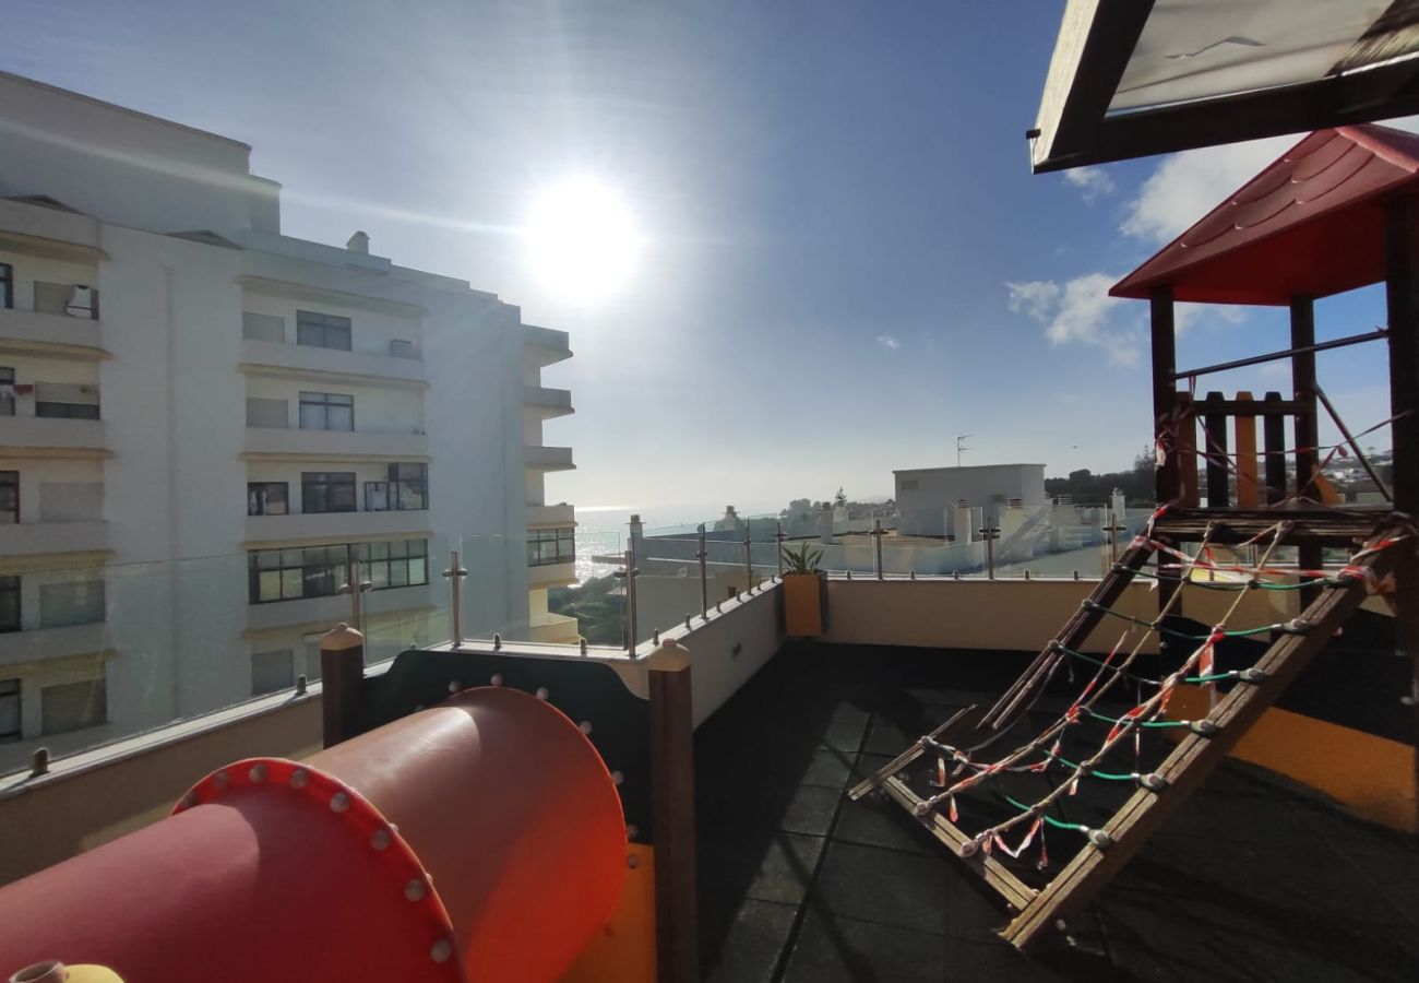
[[[695,736],[705,979],[1419,979],[1413,840],[1237,764],[1212,776],[1061,946],[1026,956],[1002,942],[1007,912],[993,892],[897,805],[843,793],[952,709],[989,702],[1026,659],[790,645],[707,720]],[[1056,682],[1040,722],[1071,692]],[[1101,822],[1128,791],[1101,784],[1081,786],[1064,818]],[[964,808],[962,825],[973,820]],[[1051,872],[1077,838],[1049,832]],[[1039,882],[1036,861],[1022,855],[1022,878]]]

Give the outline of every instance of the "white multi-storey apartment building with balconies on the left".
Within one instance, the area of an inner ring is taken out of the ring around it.
[[[355,233],[281,234],[250,148],[0,72],[0,770],[368,656],[575,642],[562,331]],[[342,592],[343,588],[343,592]]]

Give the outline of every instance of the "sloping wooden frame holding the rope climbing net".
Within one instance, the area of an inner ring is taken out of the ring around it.
[[[1371,526],[1369,531],[1374,533],[1374,528]],[[1159,536],[1165,531],[1159,524]],[[1386,528],[1374,534],[1366,547],[1376,547],[1391,536],[1402,534],[1399,530]],[[918,807],[925,800],[907,784],[902,771],[928,751],[928,742],[966,747],[971,746],[971,740],[983,737],[975,744],[981,747],[993,739],[992,734],[1003,734],[1043,689],[1051,666],[1060,658],[1066,658],[1061,646],[1077,649],[1088,638],[1104,615],[1103,608],[1118,599],[1151,553],[1152,545],[1145,543],[1130,547],[1108,577],[1090,594],[1090,601],[1094,604],[1086,601],[1080,607],[1057,639],[1040,652],[989,710],[983,713],[976,707],[961,710],[849,793],[857,800],[873,790],[881,790],[946,844],[1016,912],[1002,935],[1022,949],[1037,943],[1061,920],[1078,913],[1144,847],[1149,835],[1182,805],[1193,788],[1206,780],[1247,729],[1359,608],[1366,595],[1365,578],[1385,577],[1398,560],[1395,555],[1398,550],[1375,550],[1354,564],[1354,575],[1328,584],[1320,597],[1307,605],[1301,617],[1291,622],[1293,631],[1277,638],[1266,655],[1252,669],[1244,670],[1233,689],[1218,700],[1208,717],[1189,729],[1156,771],[1148,777],[1147,787],[1139,784],[1108,822],[1100,830],[1090,831],[1084,847],[1074,858],[1049,884],[1034,889],[989,852],[976,849],[971,834],[935,810],[918,815]]]

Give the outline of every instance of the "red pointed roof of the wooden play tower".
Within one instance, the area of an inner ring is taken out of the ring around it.
[[[1419,135],[1318,129],[1118,281],[1114,297],[1288,304],[1385,278],[1382,205],[1419,193]]]

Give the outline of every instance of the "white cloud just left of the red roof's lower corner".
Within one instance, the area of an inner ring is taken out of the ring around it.
[[[1117,280],[1108,273],[1086,273],[1063,286],[1053,280],[1005,286],[1010,291],[1010,310],[1043,324],[1050,344],[1098,345],[1112,362],[1137,365],[1141,359],[1137,327],[1118,317],[1125,301],[1108,295]]]

